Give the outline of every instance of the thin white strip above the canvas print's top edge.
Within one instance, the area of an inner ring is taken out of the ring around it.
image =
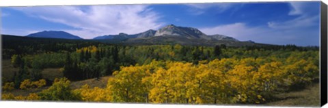
[[[35,5],[107,5],[107,4],[145,4],[145,3],[213,3],[213,2],[258,2],[291,0],[1,0],[0,6],[35,6]],[[318,1],[318,0],[296,0]],[[327,0],[323,0],[327,1]],[[327,2],[325,2],[327,3]]]

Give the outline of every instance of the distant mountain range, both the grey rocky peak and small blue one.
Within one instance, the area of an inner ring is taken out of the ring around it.
[[[43,38],[61,38],[61,39],[82,39],[76,35],[66,33],[64,31],[42,31],[32,33],[27,37],[43,37]],[[180,43],[184,45],[204,45],[214,46],[226,44],[228,46],[252,46],[256,44],[254,41],[239,41],[233,37],[226,35],[206,35],[202,31],[192,28],[176,26],[169,24],[162,27],[158,31],[148,30],[142,33],[128,35],[119,33],[118,35],[102,35],[94,37],[95,41],[108,43],[129,43],[129,44],[167,44]]]

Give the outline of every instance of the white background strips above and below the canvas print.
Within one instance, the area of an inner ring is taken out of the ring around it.
[[[258,2],[259,0],[1,0],[0,7],[8,6],[36,6],[36,5],[106,5],[106,4],[147,4],[147,3],[213,3],[213,2]],[[265,2],[271,1],[290,1],[290,0],[261,0]],[[297,0],[309,1],[309,0]],[[312,0],[313,1],[313,0]],[[318,0],[314,0],[318,1]],[[323,0],[326,4],[328,0]],[[213,108],[213,107],[255,107],[255,106],[224,106],[224,105],[150,105],[150,104],[119,104],[119,103],[57,103],[57,102],[17,102],[17,101],[0,101],[3,108],[60,108],[60,107],[77,107],[77,108],[101,108],[101,107],[156,107],[156,108]],[[256,106],[257,107],[257,106]],[[324,107],[328,107],[325,105]],[[291,108],[291,107],[288,107]]]

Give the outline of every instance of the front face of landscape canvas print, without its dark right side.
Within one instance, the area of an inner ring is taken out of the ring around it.
[[[319,106],[320,2],[1,7],[1,101]]]

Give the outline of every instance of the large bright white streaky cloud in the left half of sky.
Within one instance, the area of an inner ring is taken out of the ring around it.
[[[74,29],[63,31],[85,39],[98,35],[139,33],[162,26],[158,22],[158,14],[147,5],[47,6],[14,9],[29,16],[72,26]]]

